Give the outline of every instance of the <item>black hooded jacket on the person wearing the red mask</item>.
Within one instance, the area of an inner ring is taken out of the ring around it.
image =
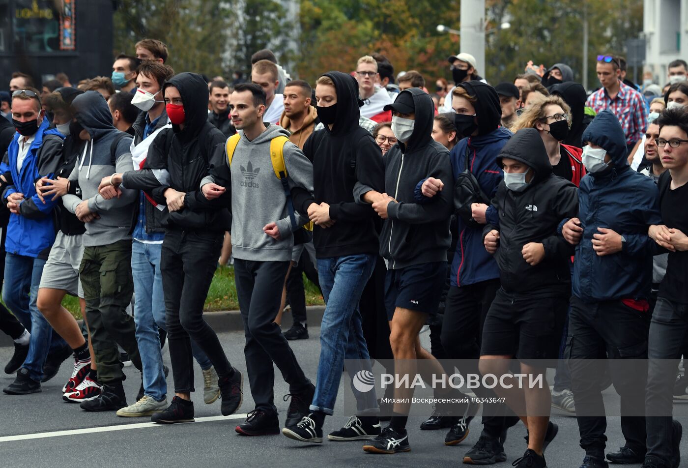
[[[195,73],[180,73],[163,87],[179,90],[184,105],[184,129],[172,125],[155,137],[144,167],[123,176],[127,189],[147,191],[158,204],[166,204],[164,192],[172,188],[186,193],[184,208],[163,211],[166,226],[202,231],[229,231],[231,218],[226,198],[208,201],[200,191],[215,152],[224,152],[226,138],[208,123],[208,85]]]

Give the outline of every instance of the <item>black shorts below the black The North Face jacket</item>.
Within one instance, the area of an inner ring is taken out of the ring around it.
[[[568,295],[514,295],[499,288],[485,318],[480,355],[556,360],[568,301]]]

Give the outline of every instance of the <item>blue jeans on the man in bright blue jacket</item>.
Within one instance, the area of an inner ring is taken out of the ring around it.
[[[43,379],[43,364],[48,351],[67,346],[36,307],[43,265],[45,260],[8,252],[5,257],[5,271],[8,274],[2,291],[5,304],[31,332],[29,354],[22,367],[28,369],[30,378],[37,382]]]

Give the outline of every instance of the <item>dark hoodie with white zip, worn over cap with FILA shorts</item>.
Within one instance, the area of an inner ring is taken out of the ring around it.
[[[447,262],[451,244],[451,190],[422,204],[414,197],[418,180],[451,180],[449,151],[432,138],[435,107],[430,95],[420,88],[403,93],[413,95],[416,122],[409,141],[397,143],[385,154],[385,192],[397,201],[389,202],[389,219],[380,234],[380,255],[388,260],[388,268]]]

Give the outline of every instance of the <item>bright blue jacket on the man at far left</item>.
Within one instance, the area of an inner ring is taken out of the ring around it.
[[[47,258],[50,247],[55,240],[55,225],[52,209],[60,200],[45,200],[45,204],[36,195],[36,180],[47,176],[52,178],[62,158],[62,142],[64,136],[56,129],[47,129],[47,118],[36,132],[34,141],[29,148],[26,158],[17,172],[17,156],[19,154],[19,133],[14,134],[5,158],[0,164],[0,173],[12,174],[12,185],[2,194],[2,200],[7,204],[9,195],[15,192],[23,193],[24,200],[19,204],[19,215],[10,215],[7,228],[5,250],[16,255],[26,257]]]

